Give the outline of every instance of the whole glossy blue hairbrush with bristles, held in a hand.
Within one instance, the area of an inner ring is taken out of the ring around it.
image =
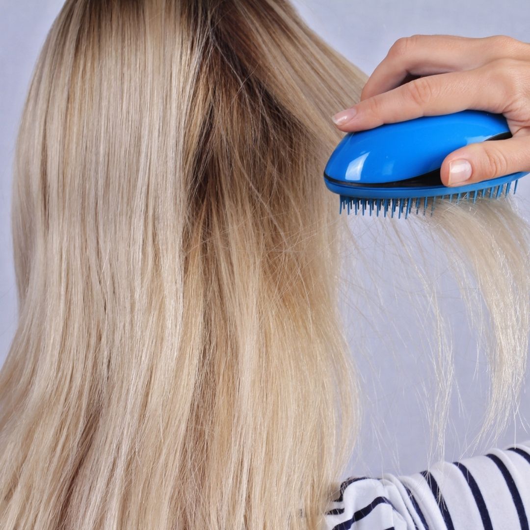
[[[355,214],[368,211],[384,216],[391,211],[407,218],[412,209],[423,215],[430,199],[431,215],[437,197],[476,201],[477,197],[508,195],[527,172],[511,173],[458,187],[446,187],[440,179],[444,158],[467,144],[510,138],[506,118],[479,110],[463,110],[441,116],[422,116],[385,123],[374,129],[348,133],[335,148],[324,170],[328,189],[340,196],[343,209]]]

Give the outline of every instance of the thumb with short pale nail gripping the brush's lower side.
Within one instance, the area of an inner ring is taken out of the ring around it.
[[[440,178],[446,186],[461,186],[518,171],[530,172],[530,137],[487,140],[469,144],[445,157]]]

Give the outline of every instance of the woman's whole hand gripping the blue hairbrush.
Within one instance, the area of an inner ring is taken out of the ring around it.
[[[465,109],[504,114],[513,138],[447,155],[440,169],[445,185],[530,171],[530,44],[502,35],[401,38],[369,77],[360,102],[333,121],[342,131],[359,131]]]

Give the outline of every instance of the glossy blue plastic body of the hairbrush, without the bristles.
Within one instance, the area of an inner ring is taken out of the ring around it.
[[[510,133],[502,114],[478,110],[423,116],[348,133],[326,164],[324,181],[334,193],[359,198],[434,197],[490,188],[527,173],[512,173],[461,187],[446,187],[441,182],[400,186],[399,181],[435,171],[455,149],[502,133]],[[389,182],[398,185],[369,187]]]

